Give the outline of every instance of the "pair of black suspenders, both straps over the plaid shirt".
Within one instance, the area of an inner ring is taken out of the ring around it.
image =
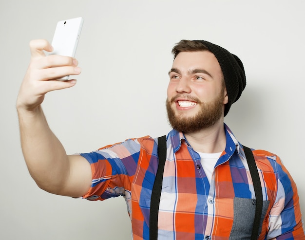
[[[252,229],[251,240],[257,240],[259,234],[259,227],[261,222],[261,215],[263,209],[263,194],[262,186],[259,178],[258,170],[255,164],[253,153],[250,148],[243,146],[254,185],[254,192],[256,198],[255,205],[255,217]],[[159,213],[159,204],[161,197],[161,188],[163,180],[163,171],[166,160],[166,136],[158,137],[158,158],[159,165],[156,173],[156,178],[152,188],[152,197],[151,197],[151,209],[150,209],[150,240],[158,239],[158,213]]]

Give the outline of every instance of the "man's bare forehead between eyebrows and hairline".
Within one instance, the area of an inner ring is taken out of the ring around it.
[[[203,69],[212,75],[222,75],[219,62],[210,51],[181,52],[174,59],[172,68],[177,68],[180,71]]]

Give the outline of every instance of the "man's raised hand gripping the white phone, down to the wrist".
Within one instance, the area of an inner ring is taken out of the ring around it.
[[[43,102],[47,92],[70,88],[76,80],[52,80],[66,75],[78,75],[81,69],[77,67],[75,58],[60,55],[45,55],[44,51],[52,52],[51,44],[44,39],[30,42],[31,61],[23,78],[17,108],[27,111],[35,110]]]

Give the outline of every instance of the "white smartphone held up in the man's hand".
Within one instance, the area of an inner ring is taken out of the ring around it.
[[[72,18],[57,22],[52,46],[54,51],[50,55],[75,56],[78,39],[84,19]],[[69,76],[63,76],[57,80],[68,80]]]

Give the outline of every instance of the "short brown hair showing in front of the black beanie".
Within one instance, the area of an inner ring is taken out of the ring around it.
[[[181,40],[176,43],[172,48],[172,54],[174,59],[181,52],[197,52],[197,51],[209,51],[210,50],[199,40]]]

